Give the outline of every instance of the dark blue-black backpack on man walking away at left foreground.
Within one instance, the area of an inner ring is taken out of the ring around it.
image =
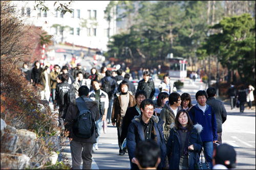
[[[94,119],[92,118],[92,113],[87,108],[86,102],[81,96],[76,99],[76,104],[79,112],[76,115],[76,119],[74,119],[73,133],[77,137],[88,139],[93,135],[94,130],[96,132],[96,126]]]

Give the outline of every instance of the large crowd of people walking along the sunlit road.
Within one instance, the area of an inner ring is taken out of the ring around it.
[[[41,68],[36,61],[31,71],[24,63],[22,71],[30,83],[42,85],[41,100],[52,103],[54,109],[58,109],[59,126],[62,131],[70,133],[73,168],[80,167],[81,159],[83,168],[91,168],[92,152],[99,150],[98,140],[104,120],[117,127],[119,155],[129,154],[131,169],[147,166],[194,169],[196,156],[200,155],[202,149],[210,168],[218,164],[218,161],[213,161],[218,153],[214,143],[222,144],[222,124],[227,112],[223,102],[215,98],[216,89],[213,87],[206,91],[199,90],[196,93],[197,104],[193,106],[190,94],[180,95],[168,75],[164,75],[158,87],[160,93],[156,102],[153,101],[155,84],[151,78],[152,72],[148,70],[138,71],[140,81],[137,89],[130,82],[130,71],[118,69],[111,72],[105,66],[101,67],[100,72],[96,68],[86,72],[81,64],[74,69],[54,65],[50,70],[48,66]],[[133,73],[131,75],[134,79]],[[249,86],[247,92],[243,87],[237,93],[232,87],[228,90],[231,109],[235,98],[240,100],[241,112],[244,102],[249,102],[251,107],[252,100],[246,98],[254,88]],[[78,98],[84,99],[95,121],[96,134],[89,139],[77,137],[73,132],[73,120],[79,112],[76,105]],[[124,141],[126,146],[123,148]],[[144,147],[148,149],[143,150]],[[152,153],[148,153],[151,150]],[[148,153],[145,157],[155,155],[141,159],[143,153]],[[155,160],[151,161],[153,158]],[[235,161],[229,161],[228,165],[226,162],[223,165],[227,168],[235,167]]]

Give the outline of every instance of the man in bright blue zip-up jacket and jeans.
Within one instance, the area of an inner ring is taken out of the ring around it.
[[[207,162],[212,165],[212,153],[214,152],[214,142],[217,142],[217,125],[215,111],[206,104],[207,94],[204,90],[199,90],[196,93],[197,104],[189,110],[189,116],[193,124],[200,124],[203,127],[200,133],[203,141],[204,153]]]

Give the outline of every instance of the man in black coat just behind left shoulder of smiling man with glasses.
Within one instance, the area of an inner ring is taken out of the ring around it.
[[[123,143],[123,140],[126,138],[127,130],[129,125],[132,122],[132,119],[134,118],[134,116],[138,116],[141,114],[140,104],[144,99],[146,99],[146,92],[143,90],[137,91],[135,93],[136,106],[130,107],[126,110],[125,116],[123,117],[123,124],[122,124],[122,134],[121,134],[122,143]]]

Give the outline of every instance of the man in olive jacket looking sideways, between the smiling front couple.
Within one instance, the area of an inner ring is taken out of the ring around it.
[[[175,122],[175,117],[177,112],[181,109],[181,99],[180,94],[177,92],[172,92],[169,95],[169,101],[166,101],[163,109],[160,112],[160,118],[164,121],[163,123],[163,130],[164,130],[164,138],[165,143],[169,138],[170,133],[170,124]]]

